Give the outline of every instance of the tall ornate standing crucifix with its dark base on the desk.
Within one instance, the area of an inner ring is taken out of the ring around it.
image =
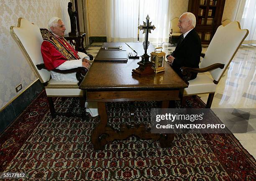
[[[150,56],[147,54],[147,49],[149,45],[148,33],[151,33],[151,30],[154,30],[156,28],[154,25],[151,25],[151,23],[152,22],[149,22],[149,16],[147,15],[146,22],[143,21],[143,25],[138,26],[140,30],[143,30],[143,33],[146,33],[145,41],[143,42],[143,48],[145,50],[145,53],[141,56],[141,61],[137,63],[139,67],[133,69],[132,75],[141,77],[144,75],[154,74],[154,70],[151,69],[152,63],[151,61],[149,61]]]

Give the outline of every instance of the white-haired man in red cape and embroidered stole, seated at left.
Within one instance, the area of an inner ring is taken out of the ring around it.
[[[89,56],[74,50],[74,48],[64,38],[66,27],[58,17],[53,17],[48,21],[49,31],[42,32],[43,43],[41,53],[44,64],[48,70],[53,69],[73,69],[77,67],[90,68]],[[51,77],[57,81],[77,82],[75,73],[59,74],[51,71]]]

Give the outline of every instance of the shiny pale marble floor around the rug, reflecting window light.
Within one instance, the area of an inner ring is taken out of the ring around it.
[[[95,57],[100,46],[102,43],[93,43],[87,53]],[[162,46],[166,54],[175,49],[169,43],[153,46]],[[203,48],[202,52],[206,49]],[[207,102],[208,94],[199,96]],[[218,83],[211,108],[220,120],[233,124],[232,132],[236,138],[256,158],[256,46],[242,45],[239,48]],[[236,131],[236,127],[241,125],[244,127],[243,132]]]

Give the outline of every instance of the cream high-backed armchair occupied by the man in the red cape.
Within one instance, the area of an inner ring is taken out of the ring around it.
[[[83,77],[87,73],[87,69],[84,67],[78,67],[76,69],[69,70],[58,70],[53,71],[59,73],[74,73],[76,72],[77,82],[65,82],[56,81],[51,79],[50,71],[46,70],[44,61],[41,55],[41,44],[43,38],[41,36],[40,28],[37,25],[29,22],[25,18],[18,19],[18,26],[10,27],[11,33],[20,45],[20,48],[26,55],[29,64],[31,64],[33,70],[36,72],[41,83],[44,84],[47,99],[49,102],[51,117],[56,115],[66,116],[82,116],[84,115],[84,96],[81,89],[78,88],[82,82]],[[80,106],[82,107],[82,114],[69,114],[69,113],[58,113],[54,110],[54,103],[52,97],[80,97]]]

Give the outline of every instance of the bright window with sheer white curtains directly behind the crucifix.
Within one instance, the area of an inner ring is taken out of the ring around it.
[[[149,34],[154,43],[169,40],[169,0],[107,0],[108,42],[144,41],[143,31],[138,25],[150,18],[156,29]]]

